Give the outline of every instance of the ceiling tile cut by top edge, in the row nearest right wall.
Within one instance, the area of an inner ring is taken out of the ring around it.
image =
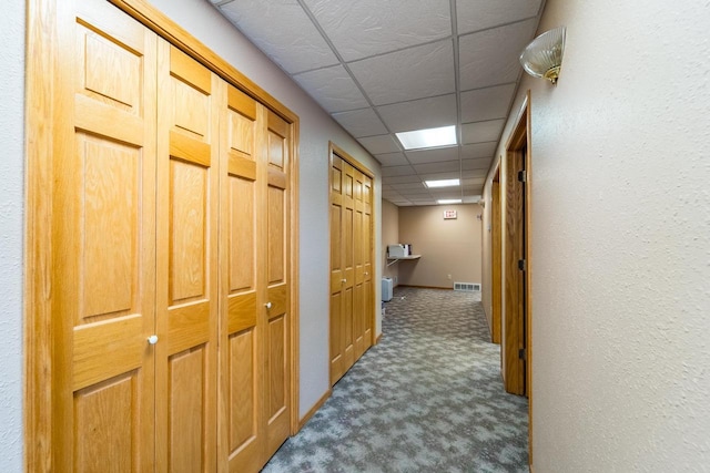
[[[541,0],[456,0],[458,34],[537,16]]]

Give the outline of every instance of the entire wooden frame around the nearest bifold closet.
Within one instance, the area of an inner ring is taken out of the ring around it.
[[[187,33],[143,0],[106,0],[148,29],[155,32],[227,83],[256,99],[284,119],[291,126],[291,228],[298,228],[298,116],[271,94],[252,82],[234,66]],[[58,82],[57,38],[68,34],[59,25],[63,7],[60,0],[28,0],[27,2],[27,65],[26,65],[26,197],[24,197],[24,470],[51,471],[53,412],[52,319],[53,260],[52,255],[52,167],[51,156],[57,150],[72,146],[59,132],[59,124],[71,104],[61,102]],[[290,307],[291,317],[291,434],[298,422],[298,232],[291,233]],[[216,429],[216,425],[215,425]]]

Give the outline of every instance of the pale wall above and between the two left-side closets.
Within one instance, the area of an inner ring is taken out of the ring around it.
[[[326,392],[328,382],[328,141],[376,174],[379,163],[326,114],[302,89],[250,43],[205,0],[152,0],[159,10],[234,65],[301,119],[301,414]],[[375,203],[375,254],[379,254],[381,204]],[[382,270],[376,269],[375,280]],[[379,285],[376,298],[379,300]],[[378,307],[378,306],[377,306]],[[377,332],[381,331],[376,310]]]

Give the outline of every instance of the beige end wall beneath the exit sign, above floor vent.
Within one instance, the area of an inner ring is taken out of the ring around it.
[[[458,218],[445,220],[444,210]],[[399,207],[399,240],[412,244],[418,260],[399,261],[399,284],[453,288],[457,282],[480,282],[480,229],[478,204]],[[448,278],[450,275],[450,279]]]

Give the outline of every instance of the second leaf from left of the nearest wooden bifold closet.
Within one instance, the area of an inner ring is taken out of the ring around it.
[[[215,471],[223,86],[160,41],[156,451],[159,467],[171,472]]]

